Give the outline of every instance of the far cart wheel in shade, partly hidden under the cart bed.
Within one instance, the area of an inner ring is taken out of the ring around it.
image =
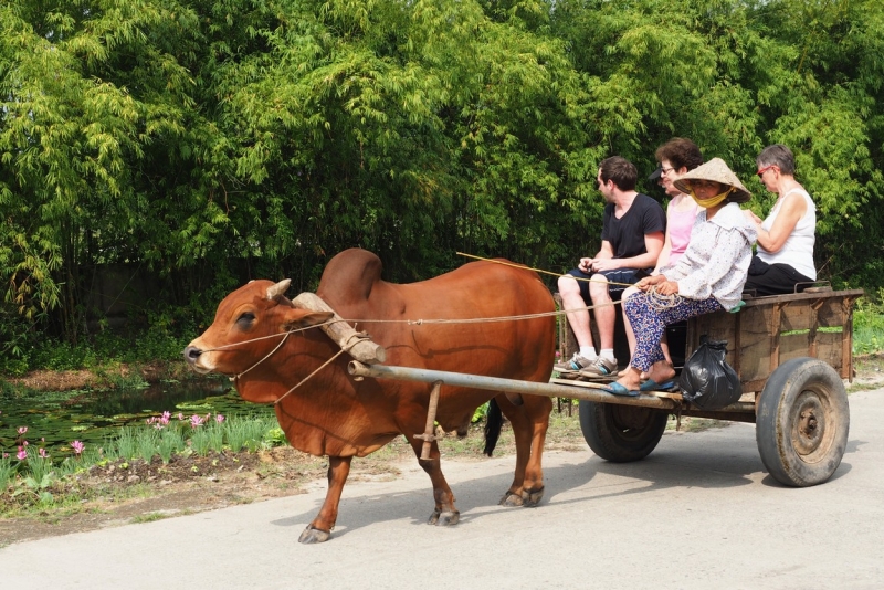
[[[667,412],[580,400],[580,430],[592,452],[627,463],[646,457],[666,430]]]

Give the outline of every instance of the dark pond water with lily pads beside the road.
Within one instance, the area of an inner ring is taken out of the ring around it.
[[[71,452],[71,442],[101,446],[120,426],[145,424],[169,411],[173,415],[273,414],[272,405],[250,403],[227,379],[161,382],[141,389],[11,392],[0,390],[0,454],[14,456],[20,439],[50,454]],[[19,435],[18,429],[28,431]]]

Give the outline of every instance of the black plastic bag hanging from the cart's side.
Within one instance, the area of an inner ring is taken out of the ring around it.
[[[702,410],[720,410],[739,401],[743,387],[737,372],[725,362],[727,340],[699,338],[678,378],[682,397]]]

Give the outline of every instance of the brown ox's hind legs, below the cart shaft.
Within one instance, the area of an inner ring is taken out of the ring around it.
[[[506,396],[498,396],[495,400],[513,425],[516,439],[513,485],[501,498],[501,505],[537,506],[544,497],[543,454],[552,400],[540,396],[523,396],[522,405],[513,404]]]

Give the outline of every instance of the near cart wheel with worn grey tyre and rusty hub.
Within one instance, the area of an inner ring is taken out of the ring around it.
[[[767,380],[756,415],[761,462],[778,482],[821,484],[841,464],[850,408],[835,370],[815,358],[780,365]]]

